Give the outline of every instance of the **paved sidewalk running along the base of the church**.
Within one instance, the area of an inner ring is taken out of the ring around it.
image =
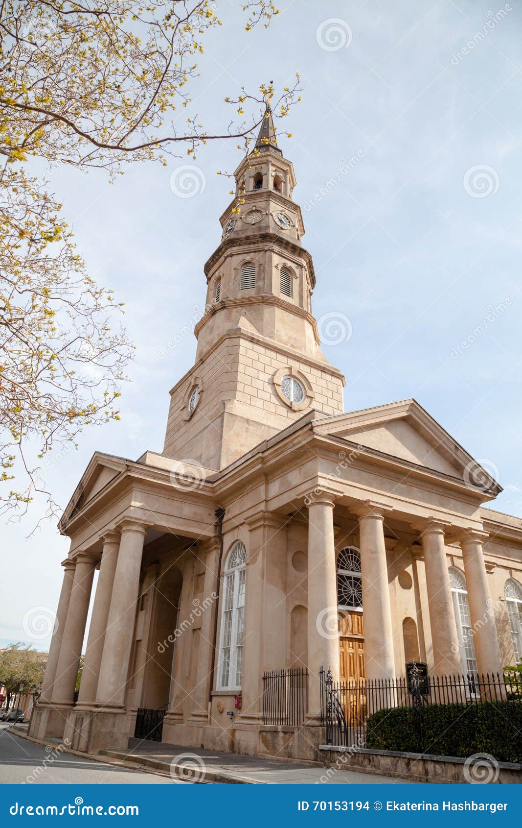
[[[12,734],[37,744],[56,748],[60,739],[32,739],[27,735],[27,725],[13,725]],[[224,753],[218,750],[186,748],[166,742],[151,742],[148,739],[129,739],[124,750],[103,750],[101,753],[79,753],[64,750],[75,756],[125,768],[158,773],[180,779],[184,782],[214,782],[220,784],[254,785],[354,785],[354,784],[416,784],[407,779],[386,777],[374,773],[328,769],[324,766],[288,762],[265,756],[243,756],[240,753]],[[175,761],[174,761],[175,760]]]

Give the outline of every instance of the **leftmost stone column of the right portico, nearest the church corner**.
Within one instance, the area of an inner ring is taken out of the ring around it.
[[[321,710],[319,670],[339,681],[338,593],[333,541],[334,496],[322,492],[308,507],[309,724]]]

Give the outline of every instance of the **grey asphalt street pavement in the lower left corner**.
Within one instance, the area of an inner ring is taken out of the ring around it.
[[[155,773],[127,770],[70,753],[48,751],[43,744],[9,733],[0,723],[0,784],[127,784],[175,785],[180,782]]]

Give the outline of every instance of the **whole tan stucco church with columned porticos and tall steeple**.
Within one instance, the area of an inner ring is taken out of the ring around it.
[[[314,758],[321,668],[358,681],[522,660],[522,521],[485,507],[496,480],[414,399],[344,412],[270,107],[235,177],[163,450],[97,452],[61,517],[37,738],[126,749],[149,716],[170,744]],[[276,724],[274,671],[302,691]]]

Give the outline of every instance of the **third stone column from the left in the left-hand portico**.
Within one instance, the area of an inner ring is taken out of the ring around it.
[[[93,614],[89,627],[89,638],[85,650],[84,669],[79,687],[78,704],[91,705],[96,701],[98,675],[102,663],[103,641],[107,629],[108,611],[113,595],[114,573],[117,551],[120,545],[119,532],[107,532],[103,536],[103,552],[94,596]]]

